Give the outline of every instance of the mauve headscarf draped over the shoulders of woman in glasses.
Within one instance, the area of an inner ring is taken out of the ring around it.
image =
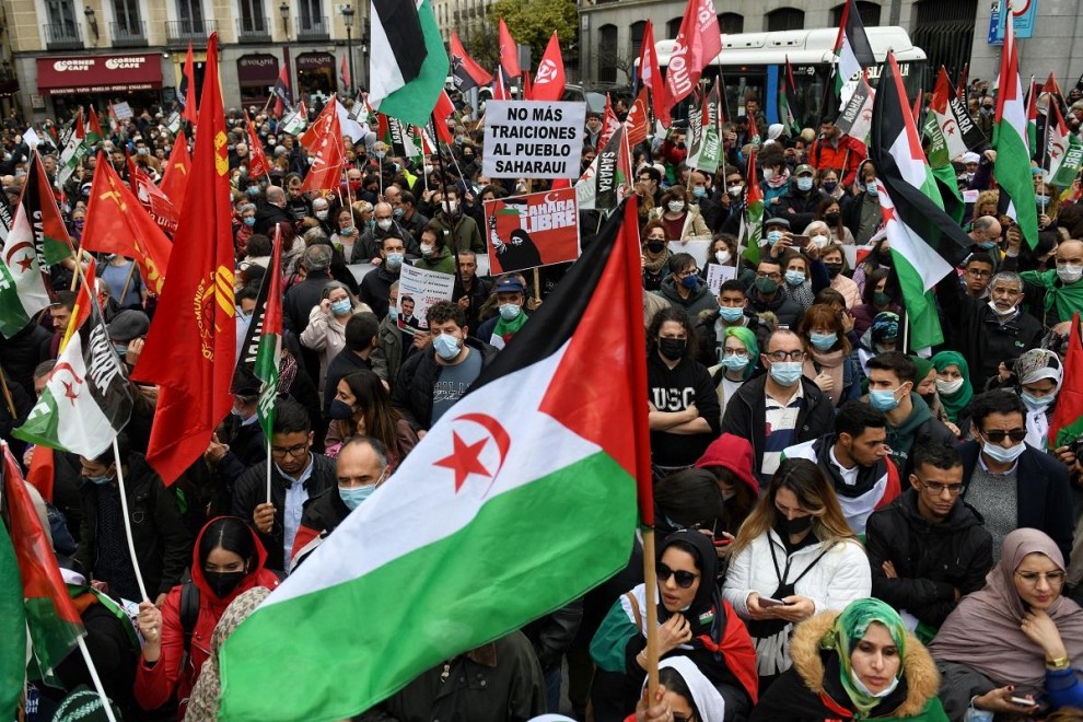
[[[1046,534],[1015,529],[1004,537],[1000,563],[986,577],[986,585],[963,597],[929,645],[938,661],[965,664],[997,686],[1015,685],[1022,695],[1040,692],[1046,682],[1045,655],[1023,633],[1023,599],[1015,590],[1015,570],[1028,554],[1043,554],[1064,569],[1064,557]],[[1083,609],[1061,595],[1046,613],[1068,656],[1083,659]]]

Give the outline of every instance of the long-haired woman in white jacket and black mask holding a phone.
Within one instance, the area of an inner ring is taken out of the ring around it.
[[[872,593],[869,558],[816,464],[788,458],[732,545],[722,595],[746,620],[760,691],[790,668],[793,626]]]

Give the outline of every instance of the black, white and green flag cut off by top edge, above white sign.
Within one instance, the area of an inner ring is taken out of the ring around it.
[[[369,103],[422,126],[447,79],[447,56],[429,0],[372,0]]]

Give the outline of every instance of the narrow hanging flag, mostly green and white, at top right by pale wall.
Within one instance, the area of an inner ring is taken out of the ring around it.
[[[1020,225],[1020,232],[1034,248],[1038,243],[1038,211],[1030,175],[1030,151],[1026,144],[1026,108],[1020,83],[1020,58],[1015,48],[1013,13],[1006,13],[1004,48],[1000,62],[1000,88],[997,92],[997,121],[993,148],[997,161],[993,174],[1000,185],[1001,206]]]

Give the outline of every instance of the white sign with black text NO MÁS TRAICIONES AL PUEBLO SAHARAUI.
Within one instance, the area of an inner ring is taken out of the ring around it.
[[[579,178],[585,103],[489,101],[481,172],[492,178]]]

